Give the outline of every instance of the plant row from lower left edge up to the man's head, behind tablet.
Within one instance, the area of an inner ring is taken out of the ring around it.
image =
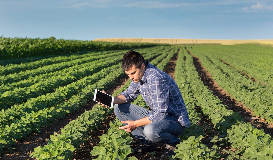
[[[107,86],[110,82],[113,83],[114,79],[116,79],[114,76],[116,71],[120,71],[120,65],[102,69],[102,72],[95,76],[98,77],[98,79],[95,77],[93,77],[93,79],[86,79],[82,82],[83,87],[80,89],[79,93],[72,95],[67,101],[63,100],[55,105],[37,109],[36,111],[29,113],[24,112],[21,117],[16,117],[17,119],[14,116],[8,116],[9,119],[2,119],[0,140],[6,142],[2,147],[11,148],[12,145],[16,144],[16,140],[20,140],[34,131],[39,131],[40,127],[48,125],[57,118],[63,118],[65,114],[68,114],[71,111],[73,112],[73,110],[82,106],[81,104],[92,97],[95,88]],[[114,76],[114,78],[112,77],[113,80],[107,80],[107,78],[111,78],[109,75]],[[117,76],[117,78],[118,77],[119,76]]]

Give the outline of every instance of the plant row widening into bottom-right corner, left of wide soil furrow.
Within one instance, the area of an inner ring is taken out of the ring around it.
[[[231,110],[216,98],[207,87],[203,86],[198,73],[195,70],[191,55],[186,54],[186,67],[188,77],[192,75],[190,85],[193,97],[218,130],[219,136],[213,138],[213,142],[228,142],[235,151],[226,151],[228,159],[268,159],[273,156],[273,139],[250,123],[245,123],[242,117]],[[196,81],[194,81],[196,80]],[[195,88],[195,89],[194,89]],[[201,93],[201,94],[200,94]],[[239,157],[239,155],[241,155]]]

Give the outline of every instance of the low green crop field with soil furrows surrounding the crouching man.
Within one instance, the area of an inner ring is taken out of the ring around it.
[[[92,101],[95,89],[113,96],[126,90],[131,81],[121,61],[133,49],[175,79],[186,103],[191,127],[169,159],[272,159],[272,47],[139,42],[38,55],[21,49],[1,59],[0,158],[159,159],[164,145],[133,154],[137,139],[117,129],[113,109]],[[5,45],[2,54],[12,53]],[[133,103],[148,108],[141,96]]]

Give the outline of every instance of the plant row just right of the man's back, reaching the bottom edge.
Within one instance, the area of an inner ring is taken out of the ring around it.
[[[187,59],[184,48],[181,48],[176,61],[175,80],[183,96],[191,126],[180,136],[181,143],[177,145],[176,154],[169,159],[217,159],[220,158],[220,154],[216,153],[218,147],[214,145],[210,149],[201,141],[206,135],[203,129],[205,126],[198,125],[201,113],[197,112],[196,106],[200,106],[200,103],[194,98],[201,92],[196,91],[198,77]]]

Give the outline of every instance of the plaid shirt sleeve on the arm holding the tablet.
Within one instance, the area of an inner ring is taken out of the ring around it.
[[[123,95],[126,99],[126,103],[132,102],[135,99],[137,99],[137,96],[140,94],[139,90],[137,88],[137,84],[133,81],[131,81],[130,86],[126,89],[126,91],[123,91],[120,93]]]

